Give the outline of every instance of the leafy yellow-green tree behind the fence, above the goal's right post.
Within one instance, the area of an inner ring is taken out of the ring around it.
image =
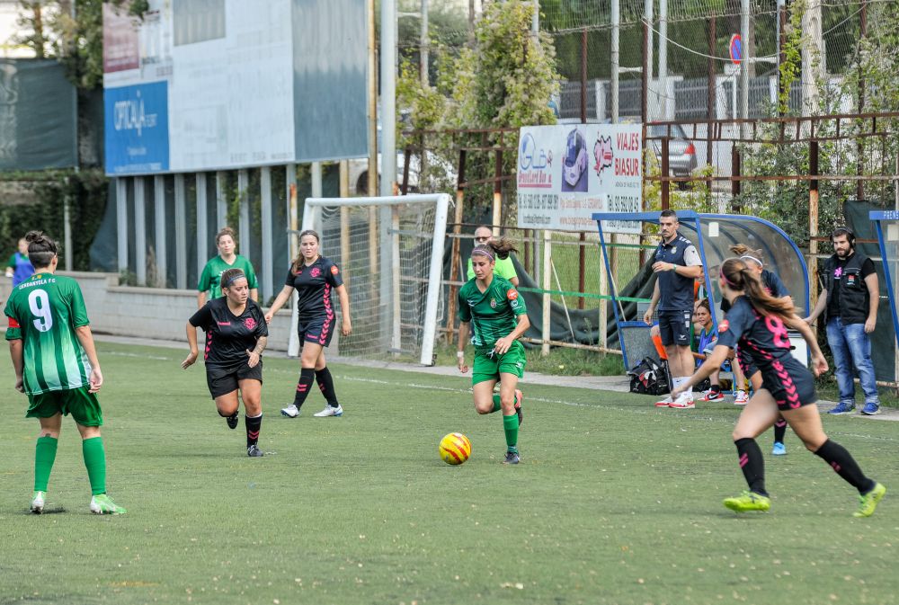
[[[436,85],[423,86],[417,69],[406,63],[397,81],[397,111],[408,112],[414,130],[518,128],[556,121],[549,101],[558,93],[555,50],[546,32],[530,31],[533,4],[492,2],[475,27],[475,44],[461,49],[458,58],[441,52],[437,61]],[[402,124],[401,120],[397,120]],[[419,181],[432,191],[452,191],[448,167],[458,164],[458,147],[489,147],[501,135],[454,135],[444,132],[423,140],[397,140],[401,145],[428,149],[423,156]],[[502,135],[504,147],[516,147],[518,133]],[[494,176],[494,152],[469,154],[466,179],[477,181]],[[503,156],[503,174],[514,172],[515,154]],[[430,172],[425,173],[425,166]],[[492,184],[467,189],[469,218],[479,218],[492,199]],[[506,196],[511,200],[512,196]],[[507,206],[506,211],[514,205]]]

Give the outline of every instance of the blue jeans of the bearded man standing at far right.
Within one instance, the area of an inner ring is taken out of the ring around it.
[[[871,361],[871,339],[864,324],[843,324],[840,317],[827,320],[827,343],[833,353],[833,373],[840,387],[840,403],[855,405],[855,383],[852,366],[859,371],[859,383],[866,404],[880,405],[874,362]]]

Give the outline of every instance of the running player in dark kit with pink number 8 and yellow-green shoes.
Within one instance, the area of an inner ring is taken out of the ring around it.
[[[734,444],[749,491],[727,498],[732,511],[767,511],[770,499],[765,490],[764,463],[755,438],[767,431],[782,414],[806,449],[823,458],[839,476],[859,490],[855,517],[869,517],[886,494],[886,487],[861,472],[852,455],[824,434],[821,414],[815,405],[814,377],[790,354],[787,326],[802,333],[812,351],[815,374],[827,371],[827,361],[811,329],[796,316],[785,298],[773,298],[759,280],[758,273],[741,259],[727,259],[718,280],[721,293],[731,304],[724,321],[718,324],[718,343],[696,373],[678,389],[697,384],[721,367],[737,343],[740,352],[751,358],[761,372],[762,387],[755,391],[734,428]],[[672,394],[676,395],[676,394]]]

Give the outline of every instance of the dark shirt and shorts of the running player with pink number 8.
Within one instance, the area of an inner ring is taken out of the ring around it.
[[[718,344],[739,344],[741,363],[752,361],[761,370],[761,380],[779,405],[789,407],[814,402],[814,377],[790,352],[787,326],[779,316],[762,316],[749,299],[734,300],[725,319],[718,324]]]

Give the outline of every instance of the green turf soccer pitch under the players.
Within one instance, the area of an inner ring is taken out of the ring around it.
[[[202,367],[179,368],[186,347],[99,348],[110,493],[129,513],[88,512],[69,419],[48,513],[27,512],[37,423],[0,364],[0,603],[899,602],[896,423],[824,419],[892,490],[874,517],[850,516],[854,491],[792,433],[766,458],[772,511],[737,516],[721,505],[744,486],[733,405],[525,387],[506,467],[467,378],[334,366],[344,417],[313,418],[314,392],[288,420],[298,364],[267,359],[266,456],[250,459]],[[474,447],[461,467],[437,455],[453,431]]]

